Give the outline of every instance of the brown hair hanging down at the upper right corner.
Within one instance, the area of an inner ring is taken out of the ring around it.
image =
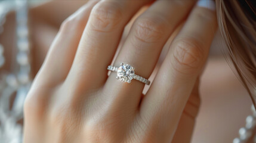
[[[216,8],[226,59],[256,107],[256,1],[216,0]]]

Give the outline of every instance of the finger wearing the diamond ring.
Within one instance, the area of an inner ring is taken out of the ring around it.
[[[186,18],[193,4],[194,1],[156,1],[135,20],[114,65],[119,67],[121,62],[129,64],[135,67],[135,74],[146,79],[149,78],[162,47],[175,28]],[[144,83],[133,79],[127,85],[127,83],[116,80],[115,77],[116,73],[112,72],[107,80],[106,89],[116,89],[114,95],[118,99],[122,98],[119,105],[124,110],[129,108],[135,111],[134,109],[138,108],[140,102]],[[120,97],[121,95],[122,97]],[[116,101],[113,100],[113,102]],[[128,107],[124,107],[124,102],[128,103],[125,104]]]

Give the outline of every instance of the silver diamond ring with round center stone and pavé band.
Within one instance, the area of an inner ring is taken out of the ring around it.
[[[121,63],[121,66],[119,66],[119,67],[108,66],[107,70],[116,71],[118,74],[116,76],[116,79],[119,79],[122,82],[130,83],[132,79],[136,79],[140,82],[145,83],[146,85],[150,84],[149,80],[135,74],[134,73],[135,68],[130,66],[129,64]]]

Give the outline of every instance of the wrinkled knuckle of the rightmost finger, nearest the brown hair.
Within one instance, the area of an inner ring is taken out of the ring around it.
[[[193,38],[181,38],[173,43],[171,66],[179,73],[194,74],[201,67],[203,50],[201,43]]]

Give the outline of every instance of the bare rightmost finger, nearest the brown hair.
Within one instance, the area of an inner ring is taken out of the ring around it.
[[[208,2],[214,5],[213,1]],[[174,135],[187,99],[205,64],[216,29],[215,11],[195,7],[172,42],[141,103],[141,120],[146,120],[150,124],[149,130],[166,142]]]

